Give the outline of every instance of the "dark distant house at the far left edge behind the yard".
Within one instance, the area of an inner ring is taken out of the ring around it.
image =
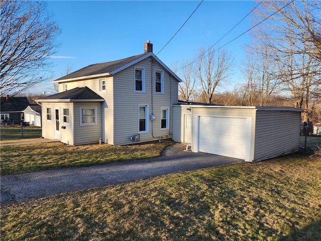
[[[24,110],[28,107],[27,97],[1,97],[0,114],[1,119],[19,119],[24,121]]]

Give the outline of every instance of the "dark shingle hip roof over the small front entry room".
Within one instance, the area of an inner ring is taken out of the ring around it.
[[[64,92],[60,92],[58,94],[52,94],[49,96],[45,96],[37,99],[38,102],[45,102],[44,100],[50,99],[68,99],[70,101],[73,100],[104,100],[99,94],[92,91],[87,86],[85,87],[76,87],[74,89],[66,90]]]

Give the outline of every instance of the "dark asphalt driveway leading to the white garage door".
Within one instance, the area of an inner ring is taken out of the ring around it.
[[[185,152],[149,160],[2,175],[1,204],[240,161],[242,160],[205,153]]]

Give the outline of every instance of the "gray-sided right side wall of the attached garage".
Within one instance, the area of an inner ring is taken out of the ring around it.
[[[254,161],[299,150],[299,111],[257,110]]]

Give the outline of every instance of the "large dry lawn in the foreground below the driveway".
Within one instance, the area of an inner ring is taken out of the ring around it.
[[[2,207],[2,240],[320,240],[321,158],[288,155]]]

